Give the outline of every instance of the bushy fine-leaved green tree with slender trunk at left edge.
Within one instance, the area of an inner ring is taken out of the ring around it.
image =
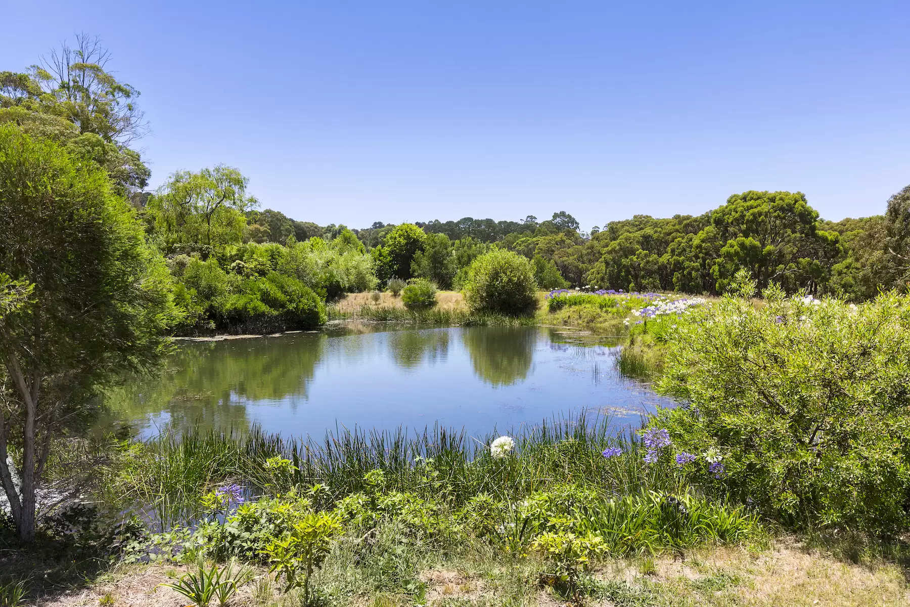
[[[163,259],[96,163],[0,126],[0,218],[0,484],[28,541],[54,440],[85,429],[122,371],[156,364],[177,312]]]

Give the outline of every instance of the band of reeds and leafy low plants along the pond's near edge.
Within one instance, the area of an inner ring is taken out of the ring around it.
[[[319,596],[309,580],[339,551],[369,569],[410,554],[372,590],[419,602],[418,561],[486,550],[530,559],[541,584],[581,602],[605,557],[763,541],[748,508],[679,484],[677,464],[649,462],[646,445],[608,428],[581,416],[480,443],[440,428],[343,430],[321,444],[258,430],[162,437],[124,445],[107,484],[157,502],[128,559],[268,565],[305,602]]]

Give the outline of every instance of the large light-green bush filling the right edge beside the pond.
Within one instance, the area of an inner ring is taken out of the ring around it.
[[[784,522],[905,525],[910,298],[857,308],[776,287],[763,296],[761,308],[727,296],[689,313],[658,383],[689,406],[655,424],[705,454],[686,464],[691,475]]]

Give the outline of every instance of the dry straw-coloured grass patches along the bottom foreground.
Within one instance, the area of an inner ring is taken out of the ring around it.
[[[427,605],[540,605],[555,607],[565,600],[535,583],[539,561],[466,559],[457,566],[430,568],[420,574]],[[124,607],[179,607],[185,602],[157,584],[186,570],[161,564],[122,565],[86,589],[37,601],[41,607],[95,607],[109,594]],[[264,572],[260,571],[260,575]],[[886,607],[910,605],[905,572],[886,562],[854,564],[807,549],[792,540],[773,541],[763,549],[713,547],[684,558],[642,557],[603,564],[595,572],[601,592],[587,602],[599,607]],[[354,582],[356,586],[356,582]],[[281,603],[278,595],[254,596],[255,582],[243,586],[232,605]],[[332,604],[389,607],[411,604],[404,594],[353,592],[336,595]]]

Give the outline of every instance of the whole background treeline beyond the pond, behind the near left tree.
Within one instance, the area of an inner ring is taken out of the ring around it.
[[[131,148],[146,130],[138,91],[106,69],[96,39],[76,42],[23,73],[0,73],[0,124],[106,170],[167,259],[181,331],[311,326],[326,299],[391,278],[459,289],[471,262],[492,248],[531,260],[542,289],[718,294],[746,268],[759,288],[776,282],[861,300],[910,278],[910,187],[872,218],[823,221],[801,193],[749,191],[701,216],[635,216],[590,233],[564,211],[542,221],[319,226],[261,208],[248,179],[224,166],[177,171],[146,192],[150,171]]]

